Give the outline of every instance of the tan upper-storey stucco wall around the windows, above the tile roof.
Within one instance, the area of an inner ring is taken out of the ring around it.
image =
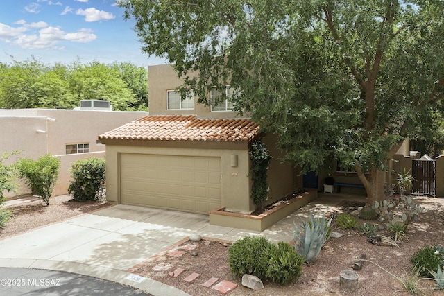
[[[195,77],[191,74],[190,77]],[[149,86],[149,110],[151,115],[177,115],[193,114],[201,119],[226,119],[234,118],[237,112],[217,111],[212,112],[210,106],[198,104],[197,96],[194,97],[194,110],[168,110],[167,90],[174,90],[183,84],[183,80],[178,78],[178,74],[173,70],[171,64],[160,64],[148,67]],[[210,94],[208,94],[210,97]]]

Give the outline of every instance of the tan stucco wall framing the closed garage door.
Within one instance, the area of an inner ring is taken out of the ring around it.
[[[250,198],[250,177],[248,175],[249,157],[246,144],[244,147],[231,149],[208,148],[206,143],[196,144],[200,147],[186,148],[157,146],[106,145],[106,195],[109,202],[120,203],[119,155],[121,153],[142,153],[152,155],[184,155],[198,157],[221,157],[221,206],[235,211],[253,211]],[[238,166],[231,166],[231,155],[237,155]]]

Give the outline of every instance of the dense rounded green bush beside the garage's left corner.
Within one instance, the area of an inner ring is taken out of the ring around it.
[[[105,186],[105,159],[89,157],[71,164],[68,194],[73,200],[100,200]]]

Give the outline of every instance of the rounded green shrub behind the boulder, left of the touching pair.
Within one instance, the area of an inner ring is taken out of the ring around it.
[[[235,241],[228,249],[228,265],[234,275],[255,275],[259,279],[265,279],[268,269],[268,258],[273,243],[267,241],[264,236],[250,237]]]

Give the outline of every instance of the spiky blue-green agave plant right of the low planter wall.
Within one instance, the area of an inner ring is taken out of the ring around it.
[[[325,242],[330,238],[332,232],[332,218],[326,220],[325,216],[316,216],[310,214],[310,220],[302,220],[302,230],[296,225],[294,234],[294,247],[296,253],[304,258],[305,261],[311,261],[318,256]]]

